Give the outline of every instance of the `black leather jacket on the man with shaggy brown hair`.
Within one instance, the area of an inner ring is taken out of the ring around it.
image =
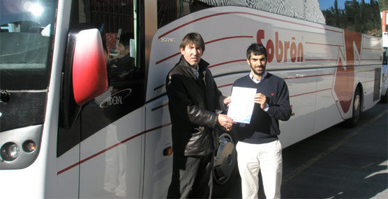
[[[166,78],[168,106],[172,122],[172,150],[186,156],[204,155],[218,145],[216,110],[224,109],[225,97],[207,68],[209,63],[198,64],[198,79],[191,65],[181,56]],[[202,82],[201,82],[202,81]],[[222,107],[221,107],[222,106]]]

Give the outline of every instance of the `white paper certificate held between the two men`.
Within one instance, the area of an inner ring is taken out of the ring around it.
[[[256,88],[234,86],[230,98],[227,116],[235,122],[249,124],[255,106]]]

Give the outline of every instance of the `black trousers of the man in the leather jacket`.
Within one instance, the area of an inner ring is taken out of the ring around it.
[[[214,154],[172,157],[172,181],[167,198],[211,198]]]

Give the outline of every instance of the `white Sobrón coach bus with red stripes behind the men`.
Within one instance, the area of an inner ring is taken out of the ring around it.
[[[354,126],[380,100],[376,0],[0,0],[0,9],[0,198],[165,198],[165,77],[189,32],[203,36],[224,95],[250,70],[248,45],[267,47],[267,70],[290,90],[283,147]],[[220,132],[215,196],[236,175],[237,136]]]

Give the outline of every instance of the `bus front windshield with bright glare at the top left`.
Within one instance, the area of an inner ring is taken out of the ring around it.
[[[0,0],[0,89],[47,89],[56,0]]]

